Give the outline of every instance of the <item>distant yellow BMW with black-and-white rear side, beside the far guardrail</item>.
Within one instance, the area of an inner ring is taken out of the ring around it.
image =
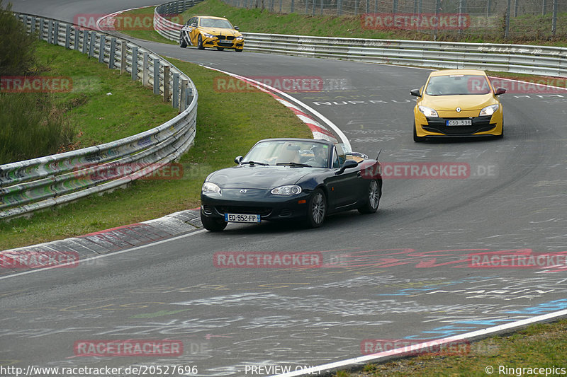
[[[179,46],[197,46],[199,50],[205,47],[216,47],[223,51],[225,48],[241,52],[244,48],[244,37],[236,26],[222,17],[193,16],[181,28]]]

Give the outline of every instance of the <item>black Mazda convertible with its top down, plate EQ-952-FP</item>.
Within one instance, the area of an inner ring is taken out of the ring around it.
[[[333,212],[374,213],[382,195],[380,163],[330,141],[261,140],[235,163],[203,183],[201,221],[209,231],[298,218],[316,228]]]

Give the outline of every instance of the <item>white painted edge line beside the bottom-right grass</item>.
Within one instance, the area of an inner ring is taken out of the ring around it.
[[[432,344],[446,344],[449,342],[456,342],[458,340],[471,340],[474,338],[486,337],[487,335],[495,334],[496,332],[505,332],[506,330],[512,330],[515,327],[523,327],[526,325],[531,325],[532,323],[543,322],[546,320],[553,320],[567,315],[567,310],[556,311],[553,313],[547,313],[544,315],[538,315],[534,318],[527,318],[525,320],[517,320],[515,322],[506,323],[505,325],[498,325],[493,327],[488,327],[483,330],[476,330],[472,332],[465,332],[461,335],[455,335],[453,337],[446,337],[442,339],[434,340],[429,342],[423,342],[420,344],[412,344],[412,352],[418,351],[419,349],[431,347]],[[371,354],[365,356],[355,357],[354,359],[347,359],[342,361],[335,361],[334,363],[322,364],[320,366],[313,366],[311,368],[302,369],[301,371],[294,371],[288,373],[282,373],[270,377],[297,377],[297,376],[316,376],[320,373],[326,373],[333,369],[344,368],[347,366],[357,366],[358,364],[366,364],[371,361],[383,361],[383,359],[391,358],[392,356],[397,356],[400,354],[407,354],[408,347],[402,347],[397,349],[392,349],[391,351],[379,352],[378,354]]]

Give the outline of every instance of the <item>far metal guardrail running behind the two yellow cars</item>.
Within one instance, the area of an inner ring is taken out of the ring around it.
[[[189,8],[191,1],[179,0],[155,8],[154,28],[169,40],[179,41],[182,25],[163,14]],[[430,42],[421,40],[377,40],[362,38],[310,37],[242,33],[245,50],[302,57],[324,57],[355,62],[468,68],[567,77],[567,48],[490,43]]]

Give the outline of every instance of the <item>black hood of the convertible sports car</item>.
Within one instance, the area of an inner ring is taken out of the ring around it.
[[[282,185],[293,185],[315,170],[322,168],[292,168],[290,166],[235,166],[215,171],[208,177],[221,188],[271,190]]]

